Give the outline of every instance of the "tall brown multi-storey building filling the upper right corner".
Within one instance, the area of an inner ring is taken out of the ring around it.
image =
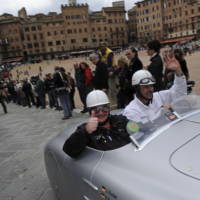
[[[134,9],[140,43],[151,39],[181,41],[200,35],[200,0],[143,0]],[[129,27],[134,20],[131,13]]]

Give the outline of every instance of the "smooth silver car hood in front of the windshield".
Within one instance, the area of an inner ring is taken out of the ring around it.
[[[138,199],[198,200],[199,135],[200,124],[182,120],[140,151],[129,144],[105,152],[95,180],[107,180],[119,197],[120,187],[127,190],[124,199],[137,194]]]

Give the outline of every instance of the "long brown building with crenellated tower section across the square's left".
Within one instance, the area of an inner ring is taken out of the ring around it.
[[[107,41],[110,47],[127,45],[125,14],[125,8],[118,4],[90,12],[88,4],[72,3],[61,5],[59,14],[27,16],[22,8],[18,17],[2,15],[2,59],[55,59],[71,51],[97,48],[101,41]]]

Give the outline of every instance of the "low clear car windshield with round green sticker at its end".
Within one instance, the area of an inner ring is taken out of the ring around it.
[[[188,95],[177,99],[172,109],[162,108],[160,116],[154,121],[142,124],[130,121],[127,131],[137,149],[142,149],[169,126],[180,121],[191,112],[200,109],[200,96]]]

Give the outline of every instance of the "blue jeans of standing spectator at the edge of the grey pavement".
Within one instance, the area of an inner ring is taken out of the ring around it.
[[[60,103],[63,108],[64,117],[71,117],[72,110],[71,110],[69,92],[67,90],[58,91],[58,98],[60,99]]]

